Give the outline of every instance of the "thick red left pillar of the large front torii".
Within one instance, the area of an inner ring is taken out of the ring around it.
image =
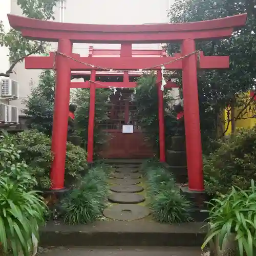
[[[72,42],[69,39],[58,40],[58,51],[71,55]],[[56,88],[53,114],[51,188],[64,188],[66,148],[68,136],[69,101],[71,68],[69,59],[56,55]],[[57,153],[57,154],[56,154]]]

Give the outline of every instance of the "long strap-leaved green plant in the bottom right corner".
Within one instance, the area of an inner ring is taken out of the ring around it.
[[[256,233],[256,191],[254,181],[248,190],[232,186],[228,195],[220,195],[219,199],[212,199],[209,204],[210,229],[202,249],[216,239],[222,248],[225,239],[231,234],[236,234],[235,242],[238,254],[243,256],[255,255]],[[253,253],[254,252],[254,253]]]

